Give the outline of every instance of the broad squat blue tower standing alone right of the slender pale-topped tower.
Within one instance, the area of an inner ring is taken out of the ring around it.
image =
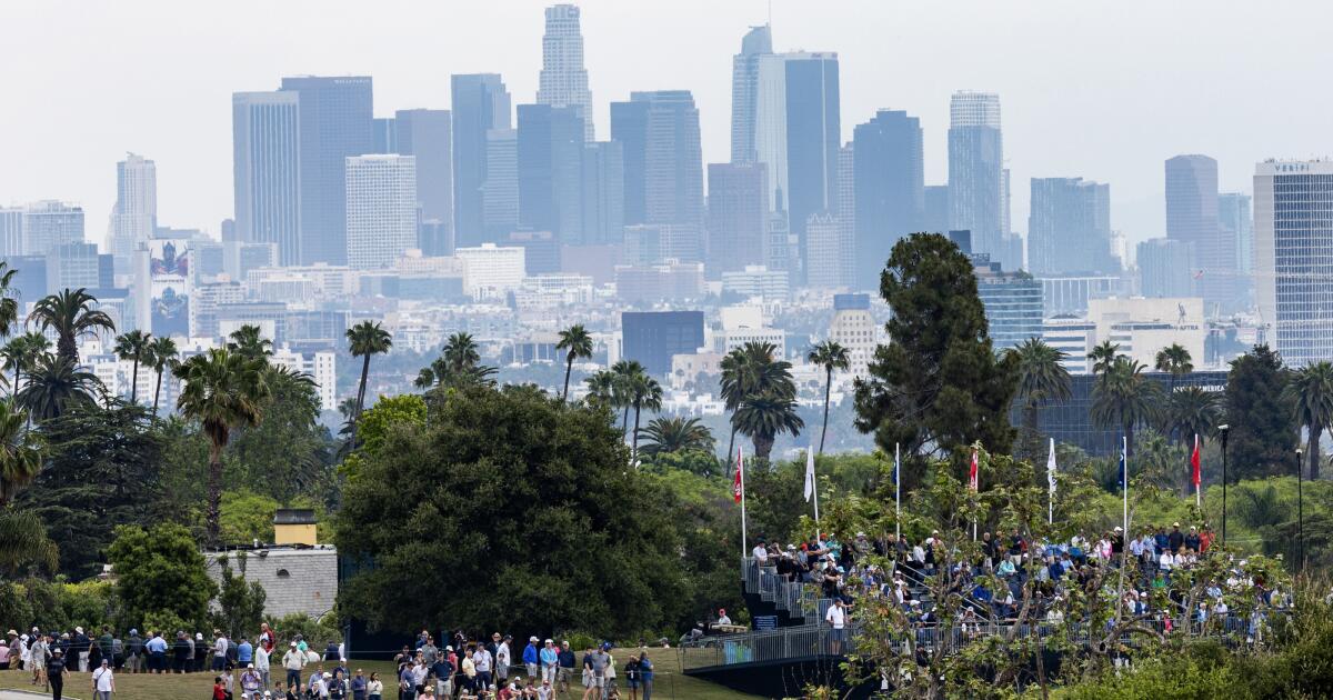
[[[1028,269],[1034,275],[1120,272],[1110,251],[1110,185],[1033,177]]]

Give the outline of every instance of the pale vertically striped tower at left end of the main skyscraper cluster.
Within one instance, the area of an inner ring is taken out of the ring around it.
[[[301,261],[299,124],[295,92],[232,95],[236,237],[276,244],[283,265]]]

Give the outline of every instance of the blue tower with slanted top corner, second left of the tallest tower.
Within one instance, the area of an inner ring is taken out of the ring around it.
[[[488,225],[483,209],[487,168],[487,135],[507,131],[509,92],[496,73],[456,75],[451,79],[453,100],[453,228],[459,245],[496,241],[512,231],[513,223]]]

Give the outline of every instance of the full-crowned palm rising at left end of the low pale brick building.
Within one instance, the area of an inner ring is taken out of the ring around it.
[[[268,363],[225,348],[195,355],[172,373],[184,381],[180,412],[208,436],[208,544],[217,545],[223,500],[223,449],[233,428],[257,425],[269,396]]]

